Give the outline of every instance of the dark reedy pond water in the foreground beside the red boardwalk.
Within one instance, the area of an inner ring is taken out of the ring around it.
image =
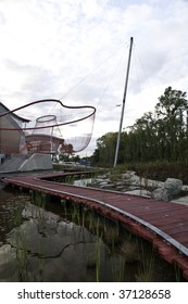
[[[120,223],[78,203],[0,190],[0,281],[177,281]]]

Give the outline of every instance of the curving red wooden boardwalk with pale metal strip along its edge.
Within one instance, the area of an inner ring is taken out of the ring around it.
[[[133,232],[149,240],[168,263],[177,264],[188,280],[188,206],[129,195],[117,191],[70,186],[24,176],[5,182],[85,203],[122,221]]]

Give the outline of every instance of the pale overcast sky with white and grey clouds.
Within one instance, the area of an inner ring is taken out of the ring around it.
[[[92,140],[153,111],[166,87],[188,91],[187,0],[0,0],[0,101],[54,98],[97,107]]]

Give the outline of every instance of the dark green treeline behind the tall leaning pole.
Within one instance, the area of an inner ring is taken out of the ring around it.
[[[121,135],[117,164],[139,162],[188,163],[188,101],[186,92],[165,89],[153,113],[145,113]],[[92,163],[113,166],[117,132],[97,140]]]

